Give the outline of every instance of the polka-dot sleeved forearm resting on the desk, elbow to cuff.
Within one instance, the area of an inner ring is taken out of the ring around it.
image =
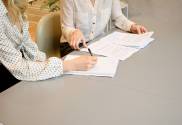
[[[45,80],[63,74],[62,60],[55,57],[43,62],[23,59],[16,64],[6,65],[6,67],[17,79],[25,81]]]

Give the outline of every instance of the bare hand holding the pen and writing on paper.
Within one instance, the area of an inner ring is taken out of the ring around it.
[[[95,66],[97,57],[80,56],[63,62],[64,71],[87,71]]]

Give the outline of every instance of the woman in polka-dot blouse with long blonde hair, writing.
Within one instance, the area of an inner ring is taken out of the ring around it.
[[[60,76],[70,70],[88,70],[96,57],[81,56],[70,61],[51,57],[38,50],[29,36],[26,0],[0,0],[0,84],[9,82],[7,69],[16,79],[37,81]]]

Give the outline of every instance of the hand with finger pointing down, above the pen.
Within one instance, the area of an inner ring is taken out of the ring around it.
[[[70,46],[73,48],[73,49],[77,49],[77,50],[80,50],[80,47],[79,47],[79,44],[80,43],[83,43],[83,46],[84,47],[87,47],[87,44],[86,44],[86,41],[85,41],[85,38],[82,34],[82,32],[79,30],[79,29],[76,29],[72,34],[71,34],[71,39],[70,39]]]

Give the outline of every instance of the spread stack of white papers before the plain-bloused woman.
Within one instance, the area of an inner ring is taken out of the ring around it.
[[[126,60],[132,54],[152,42],[154,40],[151,38],[152,35],[153,32],[141,35],[113,32],[99,41],[90,44],[88,47],[94,54]],[[87,52],[87,49],[83,48],[81,51]]]

